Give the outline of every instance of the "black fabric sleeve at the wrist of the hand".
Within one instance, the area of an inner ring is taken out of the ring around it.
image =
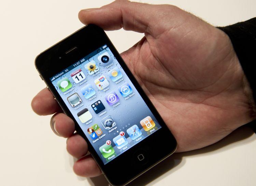
[[[256,17],[218,28],[229,36],[256,100]]]

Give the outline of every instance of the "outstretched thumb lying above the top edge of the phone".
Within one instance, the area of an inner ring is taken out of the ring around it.
[[[100,8],[81,10],[79,19],[85,25],[95,24],[104,30],[124,28],[152,34],[156,30],[154,28],[157,27],[158,22],[163,16],[166,16],[166,13],[165,15],[162,13],[162,8],[167,6],[171,5],[150,5],[116,0]],[[157,30],[160,31],[159,27]]]

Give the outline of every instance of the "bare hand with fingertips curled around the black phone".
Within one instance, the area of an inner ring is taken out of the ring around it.
[[[211,145],[255,118],[251,89],[229,37],[200,18],[172,5],[117,0],[82,10],[79,19],[104,30],[145,33],[121,56],[175,136],[177,152]],[[33,98],[32,108],[39,115],[55,113],[51,127],[68,138],[77,175],[101,174],[47,88]]]

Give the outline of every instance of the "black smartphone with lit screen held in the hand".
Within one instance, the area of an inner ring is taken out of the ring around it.
[[[129,183],[176,150],[169,128],[100,27],[76,31],[37,56],[35,66],[112,185]]]

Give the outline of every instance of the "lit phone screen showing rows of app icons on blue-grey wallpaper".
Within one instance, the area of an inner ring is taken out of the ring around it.
[[[104,164],[161,128],[107,45],[50,81]]]

